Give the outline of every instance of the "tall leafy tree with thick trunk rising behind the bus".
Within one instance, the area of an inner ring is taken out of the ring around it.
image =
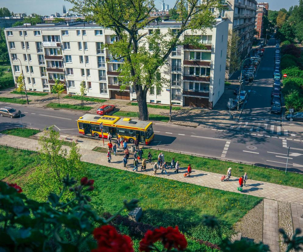
[[[176,45],[199,45],[196,36],[180,41],[180,36],[187,30],[204,32],[212,27],[215,17],[211,8],[222,8],[221,0],[203,1],[177,0],[173,9],[179,14],[178,30],[169,30],[167,34],[154,30],[152,35],[144,28],[153,25],[156,17],[149,13],[155,8],[151,0],[67,0],[74,4],[73,11],[81,13],[98,24],[112,29],[117,40],[105,44],[115,59],[124,60],[119,68],[119,79],[126,86],[133,86],[140,112],[141,120],[148,120],[146,95],[150,88],[162,87],[168,80],[160,77],[159,69],[166,63],[171,51]],[[202,1],[201,1],[202,2]],[[156,24],[156,23],[155,23]],[[149,50],[150,49],[150,50]]]

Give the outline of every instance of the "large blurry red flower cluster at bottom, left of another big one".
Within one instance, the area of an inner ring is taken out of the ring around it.
[[[91,252],[134,252],[130,237],[119,234],[113,226],[95,228],[93,235],[97,240],[98,248]]]

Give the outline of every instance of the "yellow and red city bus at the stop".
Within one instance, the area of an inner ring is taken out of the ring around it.
[[[103,124],[103,137],[108,138],[109,133],[112,138],[122,137],[124,140],[134,143],[136,139],[141,144],[149,144],[154,138],[152,122],[137,121],[130,118],[117,116],[96,116],[85,114],[77,120],[79,133],[95,138],[101,138],[100,124]]]

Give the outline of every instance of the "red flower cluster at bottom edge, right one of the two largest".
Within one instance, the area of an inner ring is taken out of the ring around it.
[[[179,232],[178,226],[173,227],[160,227],[153,231],[148,230],[145,233],[144,238],[140,241],[139,250],[144,252],[150,252],[153,250],[153,244],[161,240],[163,246],[167,250],[175,248],[179,251],[183,251],[187,247],[187,241],[183,234]]]

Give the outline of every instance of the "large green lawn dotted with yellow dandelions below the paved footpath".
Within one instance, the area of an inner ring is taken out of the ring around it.
[[[30,156],[28,152],[1,146],[0,151],[2,160],[6,162],[10,159],[7,162],[9,168],[1,172],[2,176],[7,177],[13,171],[16,177],[20,172],[19,184],[24,193],[29,198],[35,198],[39,185],[33,190],[28,185],[27,177],[22,176],[29,171],[28,169],[33,168],[33,156]],[[11,158],[12,153],[13,158]],[[37,158],[35,163],[37,165],[39,156],[33,155]],[[156,227],[178,225],[187,236],[212,243],[220,242],[218,230],[209,230],[201,224],[204,214],[215,215],[220,220],[223,237],[226,237],[233,233],[232,225],[261,200],[250,195],[150,177],[91,163],[83,162],[83,166],[88,174],[91,174],[89,178],[95,180],[95,189],[91,193],[91,205],[100,215],[103,212],[115,213],[121,207],[123,199],[138,198],[139,205],[143,209],[141,222]],[[4,170],[3,165],[0,167]],[[125,216],[127,214],[126,210],[122,213]],[[120,230],[123,229],[123,233],[127,233],[128,228],[128,226],[119,226]],[[204,245],[192,240],[190,243],[193,248],[191,251],[206,251]],[[207,251],[214,250],[207,248]]]

